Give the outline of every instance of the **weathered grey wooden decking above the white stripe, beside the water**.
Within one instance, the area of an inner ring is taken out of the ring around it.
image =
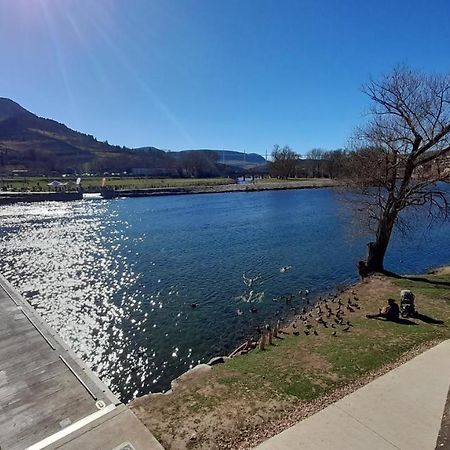
[[[25,300],[11,291],[53,347],[46,342],[6,295],[3,283],[0,276],[0,448],[23,449],[97,411],[83,383],[106,404],[117,399],[67,352],[62,341],[53,338],[54,332]]]

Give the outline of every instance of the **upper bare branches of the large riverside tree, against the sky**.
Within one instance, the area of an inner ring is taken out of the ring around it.
[[[450,77],[397,67],[363,87],[373,101],[365,138],[412,159],[450,144]],[[406,148],[404,147],[406,145]]]

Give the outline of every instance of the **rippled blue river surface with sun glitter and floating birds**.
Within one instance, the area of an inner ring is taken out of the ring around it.
[[[449,235],[395,238],[387,265],[448,263]],[[281,295],[355,281],[366,241],[328,189],[0,207],[1,273],[123,401],[288,315]]]

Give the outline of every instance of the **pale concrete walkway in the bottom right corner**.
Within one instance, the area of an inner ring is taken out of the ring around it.
[[[449,384],[447,340],[257,448],[433,450]]]

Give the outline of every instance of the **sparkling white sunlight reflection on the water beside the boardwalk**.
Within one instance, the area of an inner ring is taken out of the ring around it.
[[[129,367],[121,355],[130,337],[123,320],[139,307],[124,292],[138,275],[122,251],[126,236],[117,219],[105,216],[102,202],[72,202],[14,205],[0,210],[0,220],[7,230],[0,241],[4,276],[103,381],[124,378]],[[126,358],[129,366],[144,362]]]

